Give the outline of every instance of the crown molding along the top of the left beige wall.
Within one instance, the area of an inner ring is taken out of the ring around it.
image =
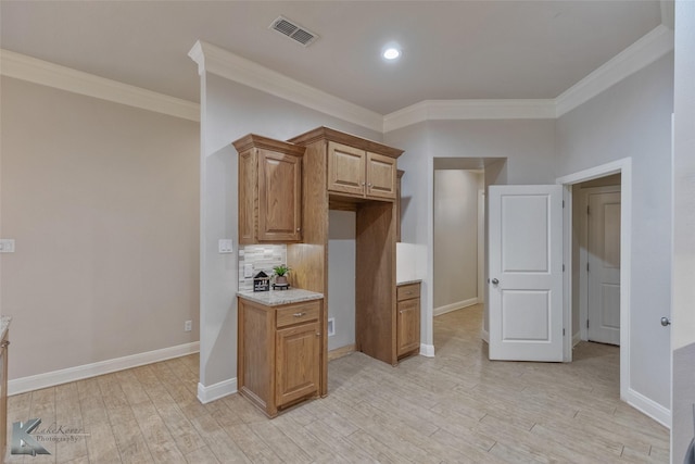
[[[42,86],[200,121],[200,104],[0,49],[0,74]]]

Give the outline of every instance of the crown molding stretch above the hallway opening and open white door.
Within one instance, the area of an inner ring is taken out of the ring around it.
[[[425,100],[383,116],[383,131],[424,121],[552,118],[555,118],[555,101],[552,99]]]

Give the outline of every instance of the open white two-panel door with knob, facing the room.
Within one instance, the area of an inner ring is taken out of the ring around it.
[[[563,361],[563,187],[489,193],[490,359]]]

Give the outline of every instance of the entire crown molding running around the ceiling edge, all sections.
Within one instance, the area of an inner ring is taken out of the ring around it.
[[[673,30],[661,24],[556,99],[425,100],[381,115],[294,80],[219,47],[197,41],[188,53],[205,72],[359,126],[388,133],[425,121],[547,120],[585,103],[673,50]],[[0,49],[0,74],[190,121],[200,104]]]

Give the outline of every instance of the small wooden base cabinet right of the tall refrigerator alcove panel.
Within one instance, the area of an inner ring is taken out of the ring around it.
[[[399,359],[420,351],[420,284],[396,289],[396,352]]]

